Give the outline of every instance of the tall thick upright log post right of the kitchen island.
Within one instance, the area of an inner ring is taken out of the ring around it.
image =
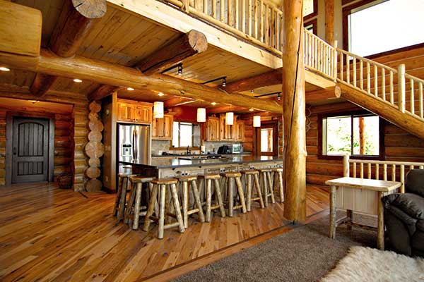
[[[284,217],[306,219],[305,66],[303,0],[283,1]]]

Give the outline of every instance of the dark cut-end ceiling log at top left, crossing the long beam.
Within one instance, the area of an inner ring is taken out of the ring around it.
[[[75,56],[84,36],[93,25],[93,20],[101,18],[105,13],[105,0],[66,0],[52,32],[49,49],[64,58]],[[57,76],[37,73],[30,91],[41,97],[56,80]]]

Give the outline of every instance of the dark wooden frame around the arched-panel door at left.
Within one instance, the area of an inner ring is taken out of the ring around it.
[[[13,118],[46,118],[49,120],[49,164],[47,164],[47,180],[54,178],[54,114],[25,113],[22,111],[6,112],[6,185],[12,184],[12,149],[13,149]]]

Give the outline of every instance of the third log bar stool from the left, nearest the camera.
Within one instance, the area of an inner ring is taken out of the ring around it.
[[[182,220],[181,215],[181,207],[179,206],[179,200],[178,200],[178,193],[177,193],[177,183],[178,180],[175,178],[170,179],[155,179],[152,180],[151,183],[153,184],[151,198],[148,203],[148,209],[146,213],[146,219],[144,219],[144,226],[143,231],[148,231],[148,228],[150,227],[151,220],[158,222],[158,238],[163,238],[163,232],[167,228],[172,227],[179,227],[179,232],[184,232],[184,222]],[[172,204],[175,208],[175,214],[171,214],[170,211],[167,211],[168,216],[175,217],[177,221],[172,223],[165,224],[165,202],[166,202],[166,193],[167,188],[170,188],[171,194],[172,194]],[[160,192],[159,197],[159,217],[152,216],[153,212],[155,210],[155,203],[158,199],[158,190]]]

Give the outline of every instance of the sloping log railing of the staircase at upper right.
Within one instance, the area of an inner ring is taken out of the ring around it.
[[[405,73],[404,64],[396,70],[342,49],[336,48],[336,51],[339,62],[338,82],[424,121],[424,80]]]

